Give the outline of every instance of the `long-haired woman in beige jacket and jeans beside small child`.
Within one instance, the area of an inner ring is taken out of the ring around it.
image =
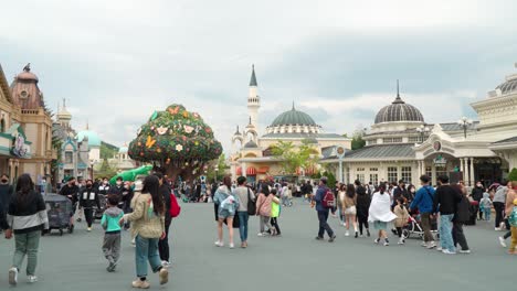
[[[124,223],[131,222],[136,233],[136,273],[137,280],[133,281],[134,288],[148,289],[147,261],[152,272],[158,272],[160,284],[169,281],[169,271],[161,266],[158,254],[158,240],[165,238],[165,203],[160,193],[160,182],[157,176],[148,175],[144,180],[141,194],[135,197],[133,213],[125,214],[120,219]]]

